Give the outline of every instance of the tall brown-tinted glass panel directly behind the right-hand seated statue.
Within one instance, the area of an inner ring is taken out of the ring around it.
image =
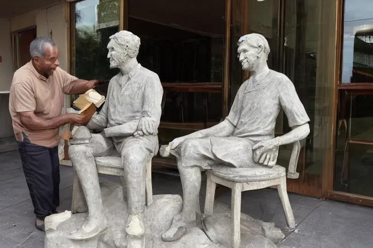
[[[270,69],[290,78],[311,120],[311,132],[301,142],[297,167],[300,177],[288,179],[288,191],[321,197],[322,171],[332,140],[329,138],[333,124],[336,3],[329,0],[237,0],[233,4],[231,103],[239,86],[249,76],[242,75],[235,58],[237,40],[243,34],[260,33],[271,47]],[[275,135],[289,131],[286,115],[280,112]],[[291,150],[292,145],[280,147],[279,165],[288,167]]]

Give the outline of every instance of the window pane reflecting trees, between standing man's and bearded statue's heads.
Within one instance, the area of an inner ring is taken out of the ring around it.
[[[109,37],[119,31],[120,0],[75,3],[75,56],[72,73],[82,79],[110,79],[118,70],[107,59]]]

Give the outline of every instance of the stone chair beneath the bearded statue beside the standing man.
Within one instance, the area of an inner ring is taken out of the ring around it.
[[[115,175],[120,177],[120,183],[123,187],[123,197],[126,201],[126,182],[124,180],[124,169],[120,163],[119,156],[102,156],[95,157],[97,172],[107,175]],[[80,185],[78,175],[75,170],[73,186],[72,186],[72,203],[71,212],[84,213],[87,211],[87,203],[85,201],[84,192],[82,186]],[[152,187],[152,158],[146,163],[146,205],[150,206],[153,203],[153,187]]]

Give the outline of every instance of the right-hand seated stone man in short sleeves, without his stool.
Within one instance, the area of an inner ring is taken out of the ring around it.
[[[270,47],[260,34],[248,34],[238,41],[239,61],[251,77],[239,88],[227,118],[213,127],[177,138],[161,155],[177,157],[183,186],[183,209],[173,218],[163,241],[175,241],[196,225],[199,210],[201,170],[216,164],[231,168],[272,167],[280,145],[304,139],[309,118],[292,82],[268,68]],[[292,128],[274,138],[277,115],[283,108]]]

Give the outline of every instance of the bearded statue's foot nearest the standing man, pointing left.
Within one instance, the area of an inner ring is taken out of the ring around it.
[[[87,217],[83,226],[70,233],[71,239],[82,240],[93,238],[102,233],[107,228],[107,218]]]

